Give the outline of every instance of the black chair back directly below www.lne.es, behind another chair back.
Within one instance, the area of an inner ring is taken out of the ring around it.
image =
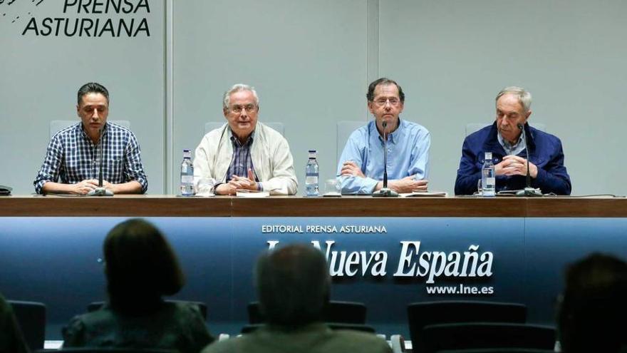
[[[509,322],[527,321],[527,306],[517,303],[452,300],[416,302],[408,305],[409,332],[414,352],[423,349],[423,327],[430,324],[456,322]]]

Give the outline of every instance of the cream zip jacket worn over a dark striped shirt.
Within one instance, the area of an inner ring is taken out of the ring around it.
[[[231,128],[224,123],[222,127],[209,131],[200,141],[194,158],[197,190],[212,192],[215,184],[226,182],[233,158],[230,137]],[[250,155],[264,190],[271,195],[296,194],[299,183],[294,174],[294,158],[287,140],[280,133],[257,121]]]

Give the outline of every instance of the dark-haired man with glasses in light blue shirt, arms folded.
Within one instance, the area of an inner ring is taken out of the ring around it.
[[[397,193],[427,190],[431,136],[417,123],[400,119],[405,93],[398,83],[379,78],[368,86],[374,121],[351,133],[338,164],[344,194],[371,194],[383,187],[383,135],[388,138],[388,188]],[[385,130],[384,130],[385,124]]]

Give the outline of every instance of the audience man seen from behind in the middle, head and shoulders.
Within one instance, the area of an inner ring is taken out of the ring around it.
[[[202,353],[392,353],[375,334],[331,330],[323,322],[331,277],[323,253],[308,244],[264,252],[255,285],[266,324],[252,333],[210,344]]]

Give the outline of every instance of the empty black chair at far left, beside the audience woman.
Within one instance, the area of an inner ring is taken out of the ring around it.
[[[43,348],[46,339],[46,305],[40,302],[7,300],[20,326],[26,344],[34,351]]]

